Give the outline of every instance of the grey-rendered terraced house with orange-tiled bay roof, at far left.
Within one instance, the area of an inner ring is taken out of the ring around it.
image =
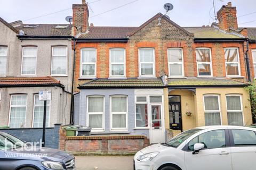
[[[70,24],[7,23],[0,18],[0,126],[42,128],[44,102],[51,90],[46,127],[70,119],[73,50]]]

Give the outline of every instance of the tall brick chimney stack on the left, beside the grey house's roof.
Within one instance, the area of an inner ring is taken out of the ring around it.
[[[73,26],[74,36],[78,32],[85,33],[89,29],[89,10],[85,0],[82,0],[82,4],[73,4]],[[78,30],[77,30],[78,29]]]

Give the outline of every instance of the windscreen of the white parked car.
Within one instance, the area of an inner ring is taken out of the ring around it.
[[[184,142],[189,137],[191,137],[191,135],[193,135],[193,134],[195,134],[195,133],[197,133],[199,131],[202,131],[202,129],[190,129],[190,130],[187,130],[185,132],[182,132],[182,133],[178,134],[177,136],[172,138],[170,141],[166,142],[166,144],[168,146],[177,148],[178,146],[180,146],[180,144],[182,142]]]

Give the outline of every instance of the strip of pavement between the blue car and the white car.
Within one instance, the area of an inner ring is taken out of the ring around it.
[[[133,170],[133,156],[76,156],[76,170]]]

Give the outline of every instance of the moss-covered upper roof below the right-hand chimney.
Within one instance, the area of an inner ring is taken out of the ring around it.
[[[189,32],[193,32],[195,38],[243,38],[231,33],[225,33],[215,27],[183,27]]]

